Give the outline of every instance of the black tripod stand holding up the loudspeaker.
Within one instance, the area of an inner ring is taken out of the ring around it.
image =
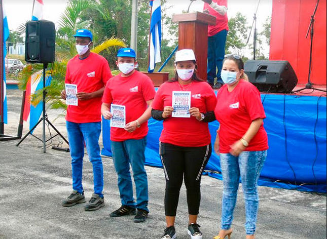
[[[53,139],[54,137],[56,137],[57,135],[59,135],[67,144],[68,141],[62,136],[62,134],[60,134],[60,132],[51,124],[51,122],[48,119],[48,115],[46,113],[46,68],[48,67],[48,63],[44,63],[43,64],[43,115],[42,118],[40,118],[39,122],[19,141],[19,143],[16,145],[17,147],[24,141],[24,139],[27,138],[28,135],[31,135],[35,138],[37,138],[38,140],[43,142],[43,152],[46,152],[46,142],[48,142],[49,140]],[[36,137],[35,135],[32,134],[33,130],[35,128],[37,128],[37,126],[42,122],[43,125],[43,134],[42,134],[42,139]],[[46,140],[46,122],[49,124],[49,126],[52,127],[52,129],[54,129],[56,131],[56,135],[52,136],[50,139]]]

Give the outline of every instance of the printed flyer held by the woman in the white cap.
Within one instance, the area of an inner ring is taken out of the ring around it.
[[[172,92],[172,117],[190,118],[191,92],[190,91],[173,91]]]

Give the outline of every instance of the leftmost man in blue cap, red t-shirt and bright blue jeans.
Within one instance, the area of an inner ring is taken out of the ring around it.
[[[95,211],[104,206],[103,166],[100,155],[101,98],[105,84],[113,77],[108,62],[102,56],[91,53],[92,33],[87,29],[77,30],[74,35],[78,55],[67,64],[66,84],[77,87],[78,105],[68,105],[66,127],[72,167],[72,193],[62,201],[63,207],[85,203],[82,185],[84,143],[93,166],[94,193],[85,205],[86,211]],[[66,99],[66,91],[61,92]]]

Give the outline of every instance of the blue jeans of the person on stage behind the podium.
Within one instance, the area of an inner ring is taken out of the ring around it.
[[[208,37],[208,76],[207,81],[214,83],[217,77],[217,83],[224,83],[222,80],[222,68],[225,57],[225,45],[227,39],[227,30],[222,30],[213,36]]]

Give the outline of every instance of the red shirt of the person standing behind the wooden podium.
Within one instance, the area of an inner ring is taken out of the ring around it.
[[[227,0],[212,0],[212,2],[218,4],[219,6],[225,6],[226,8],[228,7]],[[208,36],[213,36],[222,30],[229,30],[227,13],[222,16],[207,3],[204,4],[203,9],[208,9],[209,14],[216,17],[216,24],[214,26],[208,26]]]

